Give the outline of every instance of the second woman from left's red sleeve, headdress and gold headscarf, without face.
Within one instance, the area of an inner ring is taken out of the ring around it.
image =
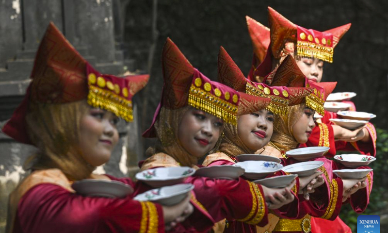
[[[197,158],[181,146],[177,136],[181,116],[188,111],[188,106],[236,124],[237,116],[256,112],[270,102],[270,99],[239,93],[210,81],[189,63],[169,38],[162,51],[162,69],[162,100],[151,127],[143,134],[158,140],[147,150],[150,157],[141,163],[142,170],[161,166],[198,167]],[[195,185],[194,194],[199,205],[215,222],[227,218],[253,225],[267,223],[267,208],[260,185],[241,178],[225,180],[198,176],[185,182]],[[194,220],[194,225],[202,221]]]

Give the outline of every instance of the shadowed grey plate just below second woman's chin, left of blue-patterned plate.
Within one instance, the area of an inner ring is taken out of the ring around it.
[[[203,176],[216,179],[234,180],[244,174],[244,169],[238,166],[205,166],[195,171],[195,176]]]

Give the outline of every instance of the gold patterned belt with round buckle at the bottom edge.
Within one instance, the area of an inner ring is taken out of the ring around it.
[[[304,232],[311,231],[311,216],[306,215],[300,219],[280,218],[277,222],[274,232]]]

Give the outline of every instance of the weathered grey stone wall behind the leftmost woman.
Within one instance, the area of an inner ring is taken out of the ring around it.
[[[122,50],[121,0],[1,0],[0,1],[0,128],[24,98],[35,52],[50,21],[81,55],[101,73],[122,75],[135,61]],[[121,12],[121,15],[119,14]],[[115,30],[114,27],[120,27]],[[139,141],[137,100],[134,122],[121,121],[120,141],[111,160],[97,168],[116,177],[133,176],[143,154]],[[0,131],[0,233],[4,232],[9,193],[27,173],[22,169],[36,149]],[[130,159],[129,159],[130,158]]]

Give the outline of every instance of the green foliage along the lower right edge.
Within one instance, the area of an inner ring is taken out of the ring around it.
[[[388,131],[376,129],[376,161],[371,164],[373,168],[373,188],[370,202],[362,215],[380,215],[388,209]],[[356,232],[357,216],[350,204],[342,206],[340,218]],[[383,223],[382,223],[383,224]]]

